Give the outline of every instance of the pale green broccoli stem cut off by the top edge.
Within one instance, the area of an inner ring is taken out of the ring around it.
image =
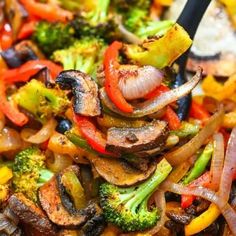
[[[106,21],[110,0],[98,0],[94,14],[91,17],[91,24],[97,25]]]

